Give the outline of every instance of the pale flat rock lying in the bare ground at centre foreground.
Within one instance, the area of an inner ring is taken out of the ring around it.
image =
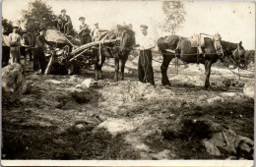
[[[106,129],[112,136],[116,136],[120,133],[131,132],[135,130],[135,126],[132,122],[124,119],[107,119],[97,126],[98,128]]]

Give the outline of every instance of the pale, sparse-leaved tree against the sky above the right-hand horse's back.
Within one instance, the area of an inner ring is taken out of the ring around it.
[[[165,15],[165,21],[160,26],[163,31],[175,34],[175,31],[181,28],[185,22],[186,11],[181,1],[163,1],[162,11]]]

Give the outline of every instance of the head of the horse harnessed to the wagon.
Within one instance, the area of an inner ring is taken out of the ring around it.
[[[129,52],[135,45],[135,32],[130,27],[117,26],[117,37],[120,37],[120,54]]]

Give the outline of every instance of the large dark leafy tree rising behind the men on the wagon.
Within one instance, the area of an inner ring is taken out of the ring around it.
[[[56,16],[51,7],[41,0],[33,0],[29,3],[29,10],[23,10],[22,22],[25,22],[25,28],[34,32],[39,28],[51,28],[54,26]]]

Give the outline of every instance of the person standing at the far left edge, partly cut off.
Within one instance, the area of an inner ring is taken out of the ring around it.
[[[10,59],[10,37],[8,30],[2,28],[2,68],[7,66]]]

